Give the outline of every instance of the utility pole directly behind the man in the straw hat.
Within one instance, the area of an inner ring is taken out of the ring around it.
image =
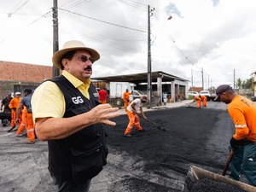
[[[53,53],[59,50],[59,29],[58,29],[58,0],[53,0],[52,21],[53,21]],[[60,70],[54,65],[52,67],[52,76],[59,76]]]

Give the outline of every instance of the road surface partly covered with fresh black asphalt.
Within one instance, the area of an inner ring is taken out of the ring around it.
[[[144,131],[123,137],[126,115],[108,127],[108,165],[92,180],[91,192],[182,191],[189,166],[221,173],[234,126],[220,102],[208,108],[171,108],[147,112],[148,119],[166,131],[143,121]],[[2,192],[55,191],[47,171],[47,143],[26,143],[26,137],[0,131],[0,189]]]

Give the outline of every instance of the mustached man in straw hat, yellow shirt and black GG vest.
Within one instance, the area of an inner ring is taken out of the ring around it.
[[[62,69],[59,77],[38,86],[32,96],[37,137],[48,141],[49,172],[58,191],[88,191],[90,180],[107,164],[105,125],[119,116],[119,108],[100,104],[90,82],[95,49],[68,41],[52,61]]]

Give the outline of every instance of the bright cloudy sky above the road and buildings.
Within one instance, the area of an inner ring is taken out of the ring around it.
[[[152,71],[204,87],[256,71],[255,0],[58,0],[59,46],[72,39],[98,50],[93,77]],[[53,0],[0,0],[0,61],[52,66]],[[172,16],[171,20],[168,20]]]

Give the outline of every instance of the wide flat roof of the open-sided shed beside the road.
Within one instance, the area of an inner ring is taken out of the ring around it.
[[[179,78],[175,75],[164,73],[162,71],[152,72],[151,73],[152,82],[156,82],[157,78],[162,77],[162,82],[169,82],[175,79],[180,81],[188,81],[187,79]],[[126,75],[117,75],[117,76],[108,76],[108,77],[96,77],[90,78],[92,80],[99,80],[104,82],[131,82],[134,84],[139,84],[143,82],[147,82],[148,73],[135,73],[135,74],[126,74]]]

